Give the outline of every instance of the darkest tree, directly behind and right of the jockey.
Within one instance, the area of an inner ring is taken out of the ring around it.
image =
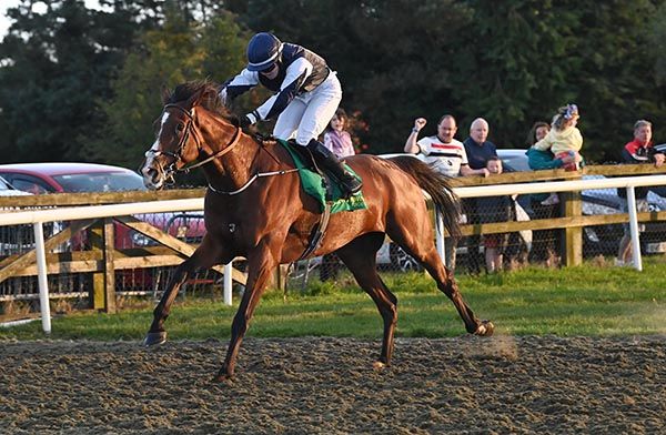
[[[343,85],[341,107],[365,120],[360,133],[370,152],[402,150],[415,117],[434,124],[454,108],[448,64],[455,34],[471,19],[464,4],[252,0],[235,11],[251,29],[273,31],[326,59]]]

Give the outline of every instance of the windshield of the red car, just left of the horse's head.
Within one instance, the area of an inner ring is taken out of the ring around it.
[[[133,173],[107,172],[53,176],[65,192],[119,192],[145,190],[143,179]]]

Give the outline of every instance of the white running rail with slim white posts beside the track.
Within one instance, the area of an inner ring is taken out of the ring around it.
[[[643,264],[640,259],[640,241],[634,188],[656,185],[666,185],[666,175],[623,176],[602,180],[574,180],[539,183],[484,185],[473,188],[456,188],[454,189],[454,192],[460,198],[480,198],[549,192],[576,192],[592,189],[625,188],[627,190],[634,267],[638,271],[642,271]],[[83,219],[124,216],[141,213],[162,213],[201,210],[203,210],[203,199],[137,202],[129,204],[112,205],[72,206],[62,209],[30,210],[19,212],[9,211],[0,213],[0,226],[20,224],[33,225],[42,328],[46,333],[50,333],[51,313],[49,307],[49,289],[47,284],[47,259],[42,226],[43,223],[57,221],[75,221]],[[441,216],[437,216],[436,220],[437,250],[440,252],[440,256],[444,259],[444,235],[442,231],[443,224]],[[224,266],[224,303],[228,305],[231,305],[232,303],[231,267],[231,263]]]

